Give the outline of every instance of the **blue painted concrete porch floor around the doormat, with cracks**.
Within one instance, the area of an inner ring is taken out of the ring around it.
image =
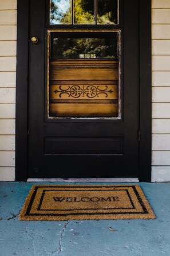
[[[0,183],[1,256],[170,255],[170,183],[139,183],[155,220],[18,220],[33,184]]]

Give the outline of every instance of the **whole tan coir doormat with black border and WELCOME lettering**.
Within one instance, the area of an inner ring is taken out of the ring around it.
[[[139,185],[33,185],[19,220],[155,219]]]

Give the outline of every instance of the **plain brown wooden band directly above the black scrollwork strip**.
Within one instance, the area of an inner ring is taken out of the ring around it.
[[[50,61],[50,80],[100,81],[105,79],[118,80],[118,61]]]

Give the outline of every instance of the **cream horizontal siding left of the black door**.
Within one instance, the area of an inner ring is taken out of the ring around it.
[[[0,1],[0,180],[15,180],[17,0]]]

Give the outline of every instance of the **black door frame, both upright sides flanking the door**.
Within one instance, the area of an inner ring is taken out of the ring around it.
[[[29,0],[17,6],[15,180],[27,180]],[[151,0],[139,1],[139,181],[151,182]]]

